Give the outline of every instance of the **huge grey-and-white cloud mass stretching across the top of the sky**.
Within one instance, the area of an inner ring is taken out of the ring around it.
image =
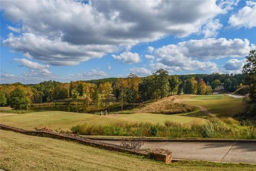
[[[222,1],[2,1],[4,16],[22,27],[21,35],[10,34],[3,44],[52,65],[76,65],[140,42],[152,42],[166,35],[185,37],[201,31],[206,21],[227,12],[230,4],[223,4]]]

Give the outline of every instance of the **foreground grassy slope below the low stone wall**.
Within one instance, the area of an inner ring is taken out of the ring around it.
[[[0,131],[0,168],[5,170],[255,170],[255,165],[183,161],[166,165],[131,154],[64,140]]]

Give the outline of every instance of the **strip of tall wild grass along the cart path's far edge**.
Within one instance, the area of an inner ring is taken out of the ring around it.
[[[154,131],[153,131],[154,130]],[[179,124],[165,121],[164,124],[130,123],[109,125],[76,125],[74,134],[114,136],[158,136],[169,138],[204,137],[221,139],[256,139],[253,121],[239,123],[233,118],[210,118],[205,124]]]

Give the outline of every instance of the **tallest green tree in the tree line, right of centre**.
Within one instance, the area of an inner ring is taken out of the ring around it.
[[[169,93],[168,71],[158,69],[154,75],[156,76],[157,87],[159,89],[160,98],[162,99]]]

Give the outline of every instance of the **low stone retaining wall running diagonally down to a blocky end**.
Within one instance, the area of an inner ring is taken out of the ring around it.
[[[55,132],[50,132],[50,131],[27,131],[25,129],[15,128],[15,127],[3,125],[3,124],[0,124],[0,129],[6,130],[6,131],[13,131],[13,132],[21,133],[21,134],[26,134],[26,135],[51,137],[53,139],[75,141],[75,142],[78,142],[78,143],[81,143],[84,145],[90,145],[95,148],[101,148],[101,149],[106,149],[106,150],[128,152],[131,154],[149,157],[154,160],[163,161],[166,164],[170,164],[171,160],[172,160],[172,152],[170,150],[155,149],[155,150],[147,151],[147,150],[129,149],[129,148],[125,148],[124,146],[121,146],[121,145],[100,142],[97,140],[90,140],[90,139],[81,138],[81,137],[73,136],[73,135],[60,134],[60,133],[55,133]]]

